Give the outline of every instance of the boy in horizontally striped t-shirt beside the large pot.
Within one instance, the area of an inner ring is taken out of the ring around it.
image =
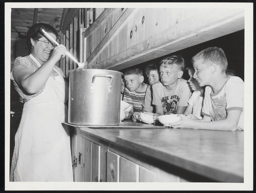
[[[133,105],[133,109],[129,112],[129,119],[133,112],[140,112],[142,110],[142,103],[144,101],[145,93],[148,84],[143,83],[144,77],[141,69],[130,68],[124,72],[124,80],[126,88],[124,89],[123,101]]]

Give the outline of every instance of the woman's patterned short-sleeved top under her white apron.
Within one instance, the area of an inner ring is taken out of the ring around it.
[[[31,54],[30,54],[31,55]],[[20,95],[20,102],[23,102],[23,103],[26,103],[28,102],[30,99],[34,98],[35,96],[38,96],[41,92],[43,92],[44,88],[45,88],[45,84],[44,86],[38,91],[36,92],[35,94],[29,94],[29,93],[25,93],[23,92],[20,87],[18,86],[18,84],[16,83],[16,81],[14,80],[13,78],[13,75],[12,75],[12,72],[16,69],[17,66],[19,65],[22,65],[22,66],[25,66],[29,69],[31,69],[33,72],[35,72],[39,66],[36,64],[36,62],[29,56],[25,56],[25,57],[18,57],[15,59],[14,61],[14,65],[13,65],[13,68],[11,70],[11,80],[13,81],[13,85],[14,85],[14,88],[15,90],[18,92],[18,94]],[[33,57],[33,56],[32,56]],[[54,69],[57,70],[63,77],[64,74],[62,72],[62,70],[57,67],[57,66],[54,66]],[[52,70],[52,73],[50,74],[50,76],[52,77],[56,77],[56,76],[59,76],[59,74],[55,71],[55,70]]]

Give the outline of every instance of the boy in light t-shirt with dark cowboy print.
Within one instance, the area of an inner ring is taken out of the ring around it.
[[[169,56],[160,61],[161,82],[152,85],[153,102],[158,115],[182,114],[188,106],[191,91],[188,81],[182,79],[184,70],[182,56]]]

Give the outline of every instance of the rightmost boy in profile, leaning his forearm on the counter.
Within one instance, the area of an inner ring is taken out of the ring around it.
[[[237,76],[227,76],[228,61],[224,51],[210,47],[192,58],[194,78],[205,87],[202,120],[191,120],[180,115],[182,120],[172,127],[244,130],[244,81]],[[170,124],[171,125],[171,124]]]

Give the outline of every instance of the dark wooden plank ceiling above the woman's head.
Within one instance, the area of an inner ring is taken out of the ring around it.
[[[16,29],[19,32],[27,32],[28,28],[33,25],[34,10],[34,8],[12,8],[12,31]],[[62,11],[63,8],[38,8],[36,23],[47,23],[59,30]]]

